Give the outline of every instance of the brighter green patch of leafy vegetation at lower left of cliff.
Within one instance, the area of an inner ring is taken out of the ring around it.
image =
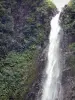
[[[35,59],[38,52],[10,52],[0,61],[0,100],[23,100],[36,78]]]

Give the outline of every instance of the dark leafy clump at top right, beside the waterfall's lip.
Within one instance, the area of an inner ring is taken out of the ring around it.
[[[68,35],[75,36],[75,0],[71,0],[63,12],[61,26]]]

